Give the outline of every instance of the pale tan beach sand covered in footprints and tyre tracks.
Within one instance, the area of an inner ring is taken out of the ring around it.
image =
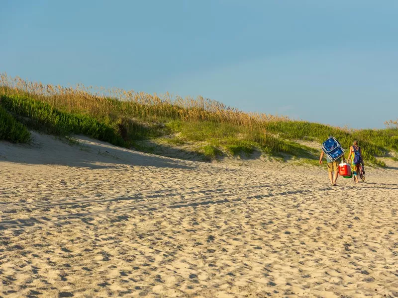
[[[185,161],[0,142],[1,297],[398,297],[398,163]]]

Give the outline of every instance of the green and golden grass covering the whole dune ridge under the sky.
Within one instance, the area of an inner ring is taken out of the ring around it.
[[[352,130],[245,113],[202,97],[172,97],[121,89],[29,82],[0,75],[0,139],[28,143],[29,130],[61,137],[85,135],[146,152],[173,148],[204,160],[254,152],[280,160],[317,164],[320,144],[335,136],[345,149],[358,140],[365,161],[398,157],[398,123],[386,129]]]

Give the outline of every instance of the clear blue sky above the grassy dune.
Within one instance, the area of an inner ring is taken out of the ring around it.
[[[383,128],[398,118],[398,1],[3,0],[0,72],[201,95]]]

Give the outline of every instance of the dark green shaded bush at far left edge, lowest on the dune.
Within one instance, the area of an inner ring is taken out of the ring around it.
[[[28,143],[30,133],[26,127],[0,106],[0,140]]]

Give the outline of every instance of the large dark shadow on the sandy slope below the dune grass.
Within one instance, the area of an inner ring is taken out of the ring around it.
[[[0,142],[0,161],[24,164],[52,164],[91,169],[126,166],[153,166],[164,168],[195,169],[195,163],[155,154],[116,147],[84,136],[76,137],[79,143],[31,132],[30,145]]]

